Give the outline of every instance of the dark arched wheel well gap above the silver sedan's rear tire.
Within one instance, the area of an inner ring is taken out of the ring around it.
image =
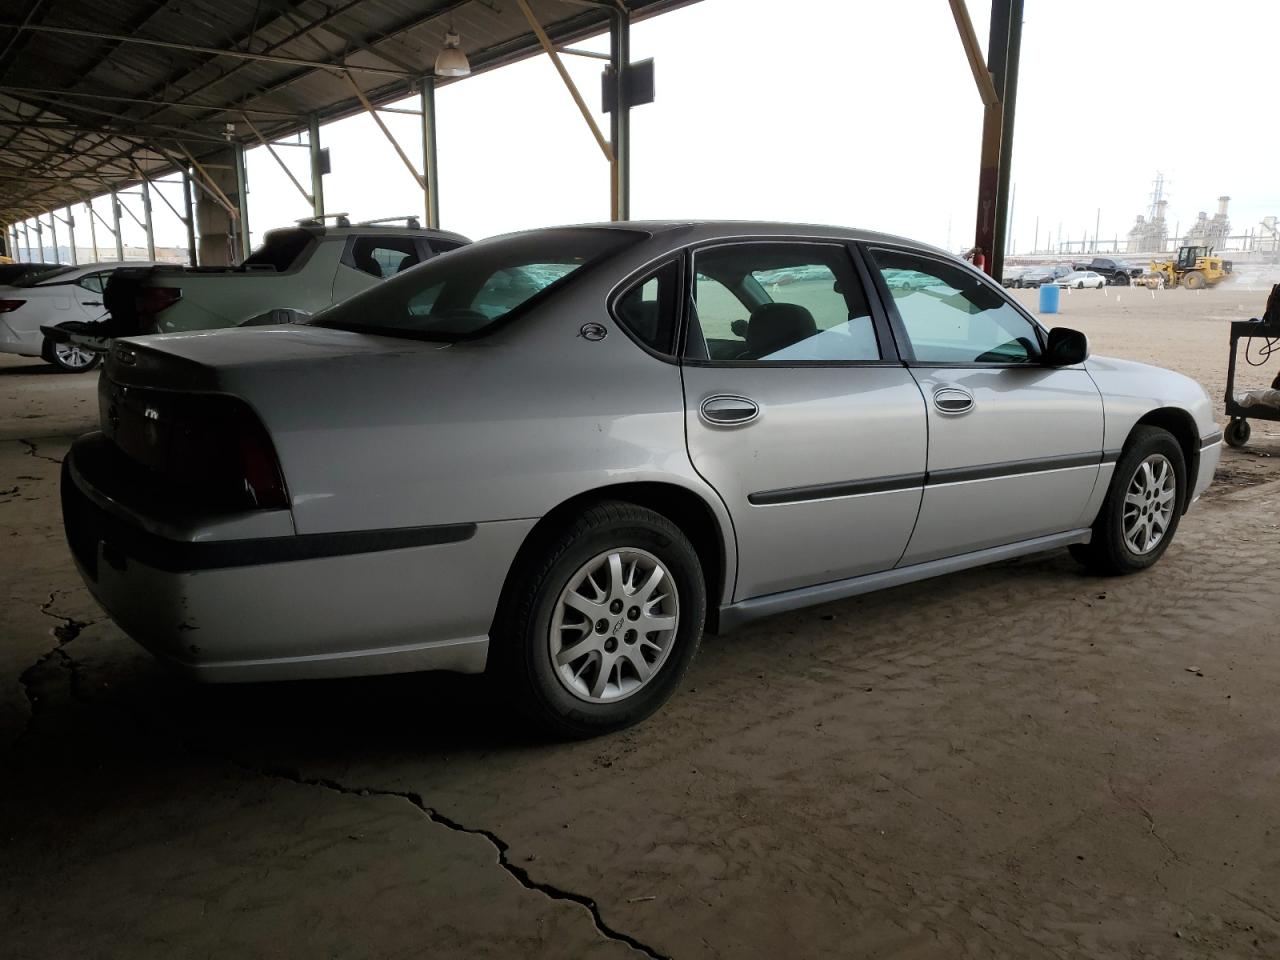
[[[581,513],[595,503],[603,500],[623,500],[646,507],[655,513],[662,513],[673,522],[689,538],[698,553],[698,561],[703,567],[703,579],[707,582],[707,625],[708,630],[714,630],[716,612],[719,609],[721,598],[724,595],[724,536],[719,522],[707,502],[692,490],[687,490],[675,484],[663,483],[634,483],[602,486],[588,490],[576,497],[571,497],[558,504],[539,520],[534,529],[529,531],[525,541],[520,545],[511,571],[517,570],[525,558],[539,549],[568,518]],[[511,580],[511,571],[507,572],[507,582]],[[503,594],[506,594],[506,582]]]

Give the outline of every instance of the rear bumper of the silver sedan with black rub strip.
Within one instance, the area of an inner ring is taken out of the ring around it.
[[[100,440],[99,440],[100,442]],[[142,646],[207,681],[485,667],[488,631],[534,521],[312,536],[182,539],[63,463],[63,520],[95,599]]]

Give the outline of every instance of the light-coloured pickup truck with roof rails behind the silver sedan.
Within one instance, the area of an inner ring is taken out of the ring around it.
[[[315,314],[470,241],[447,230],[385,223],[301,220],[270,230],[238,266],[151,266],[111,274],[102,323],[46,330],[99,352],[115,337],[209,330]],[[74,329],[72,329],[74,328]]]

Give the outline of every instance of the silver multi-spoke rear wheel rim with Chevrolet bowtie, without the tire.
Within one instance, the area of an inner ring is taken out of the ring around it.
[[[548,637],[556,677],[581,700],[631,696],[662,669],[678,623],[666,564],[648,550],[605,550],[579,567],[556,600]]]

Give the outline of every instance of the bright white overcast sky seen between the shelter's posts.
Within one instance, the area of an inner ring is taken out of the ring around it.
[[[987,9],[969,0],[986,46]],[[1170,229],[1231,196],[1233,233],[1280,214],[1274,102],[1280,3],[1027,0],[1012,238],[1124,234],[1157,172]],[[584,44],[607,49],[607,38]],[[632,28],[657,101],[632,111],[636,219],[835,223],[960,248],[972,242],[982,104],[945,0],[703,0]],[[566,58],[599,106],[602,63]],[[416,105],[408,101],[406,105]],[[436,95],[442,225],[474,238],[608,218],[608,166],[545,56]],[[420,157],[416,118],[385,115]],[[599,115],[603,129],[607,118]],[[415,180],[366,116],[330,124],[326,207],[421,214]],[[307,183],[306,150],[280,151]],[[307,204],[250,151],[250,227]],[[178,188],[164,188],[178,202]],[[109,216],[108,205],[100,211]],[[186,246],[155,204],[157,243]],[[79,246],[87,244],[83,218]],[[125,221],[125,242],[142,230]],[[65,238],[63,239],[65,243]],[[108,246],[104,236],[100,244]]]

